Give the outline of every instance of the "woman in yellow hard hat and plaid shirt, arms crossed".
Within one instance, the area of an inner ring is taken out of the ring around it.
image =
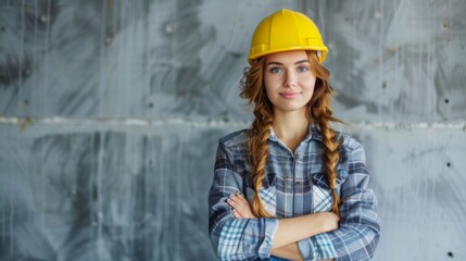
[[[210,234],[222,260],[369,260],[380,220],[364,149],[331,122],[320,33],[280,10],[256,27],[241,97],[249,129],[219,140],[209,194]]]

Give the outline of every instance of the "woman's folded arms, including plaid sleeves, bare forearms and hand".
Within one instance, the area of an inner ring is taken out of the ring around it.
[[[254,219],[245,199],[242,204],[237,201],[235,206],[235,197],[227,202],[228,196],[241,191],[244,184],[232,164],[232,152],[221,145],[209,191],[209,232],[217,257],[256,260],[273,254],[298,260],[369,260],[379,240],[380,219],[374,192],[367,188],[369,175],[364,149],[358,144],[350,145],[341,163],[344,179],[340,187],[343,200],[340,221],[330,212]],[[236,214],[231,213],[231,207]]]

